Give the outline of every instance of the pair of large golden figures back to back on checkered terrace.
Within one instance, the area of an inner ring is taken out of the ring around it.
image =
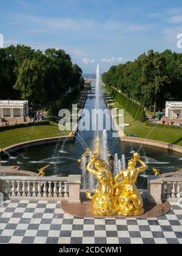
[[[121,170],[120,174],[114,178],[114,184],[109,166],[104,160],[99,159],[98,155],[99,148],[96,149],[92,160],[87,165],[87,171],[95,175],[99,182],[93,196],[91,191],[86,191],[87,197],[91,200],[90,209],[93,215],[143,215],[143,199],[135,183],[138,174],[145,171],[148,166],[141,161],[140,154],[133,153],[127,169]],[[138,163],[140,167],[136,166]],[[92,167],[93,165],[95,168]],[[122,180],[119,180],[121,178]]]

